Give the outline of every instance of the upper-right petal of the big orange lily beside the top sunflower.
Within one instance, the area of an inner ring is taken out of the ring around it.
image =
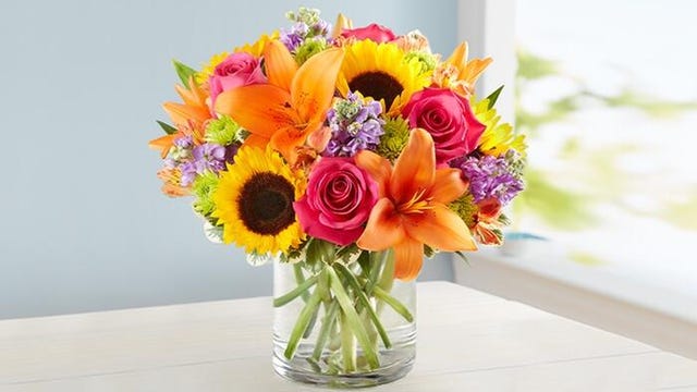
[[[343,58],[343,50],[328,49],[309,58],[297,70],[291,85],[291,101],[303,122],[325,117],[334,96]]]

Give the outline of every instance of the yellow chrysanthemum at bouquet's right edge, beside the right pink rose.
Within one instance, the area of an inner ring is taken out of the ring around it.
[[[501,115],[494,108],[489,109],[489,100],[472,101],[472,109],[477,120],[487,127],[479,138],[479,150],[491,156],[501,156],[514,149],[525,157],[525,135],[517,134],[509,123],[500,123]]]

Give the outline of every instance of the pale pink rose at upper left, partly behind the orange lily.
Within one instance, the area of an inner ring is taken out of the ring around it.
[[[266,83],[259,59],[245,52],[228,56],[216,66],[208,79],[211,109],[215,108],[216,98],[220,93],[257,83]]]

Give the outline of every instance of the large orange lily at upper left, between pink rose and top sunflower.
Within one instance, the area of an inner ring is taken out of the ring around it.
[[[341,49],[309,58],[299,69],[285,46],[267,44],[264,57],[269,84],[234,88],[216,98],[216,111],[249,131],[245,145],[278,150],[291,164],[297,148],[325,122],[343,61]]]

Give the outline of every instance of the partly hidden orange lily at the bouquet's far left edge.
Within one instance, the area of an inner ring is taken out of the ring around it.
[[[204,138],[204,124],[211,118],[206,105],[208,94],[194,82],[193,76],[188,79],[188,89],[180,85],[174,88],[184,103],[164,102],[162,107],[179,131],[148,143],[150,148],[160,150],[162,158],[167,157],[174,140],[183,135],[192,135],[197,143],[200,143]]]

